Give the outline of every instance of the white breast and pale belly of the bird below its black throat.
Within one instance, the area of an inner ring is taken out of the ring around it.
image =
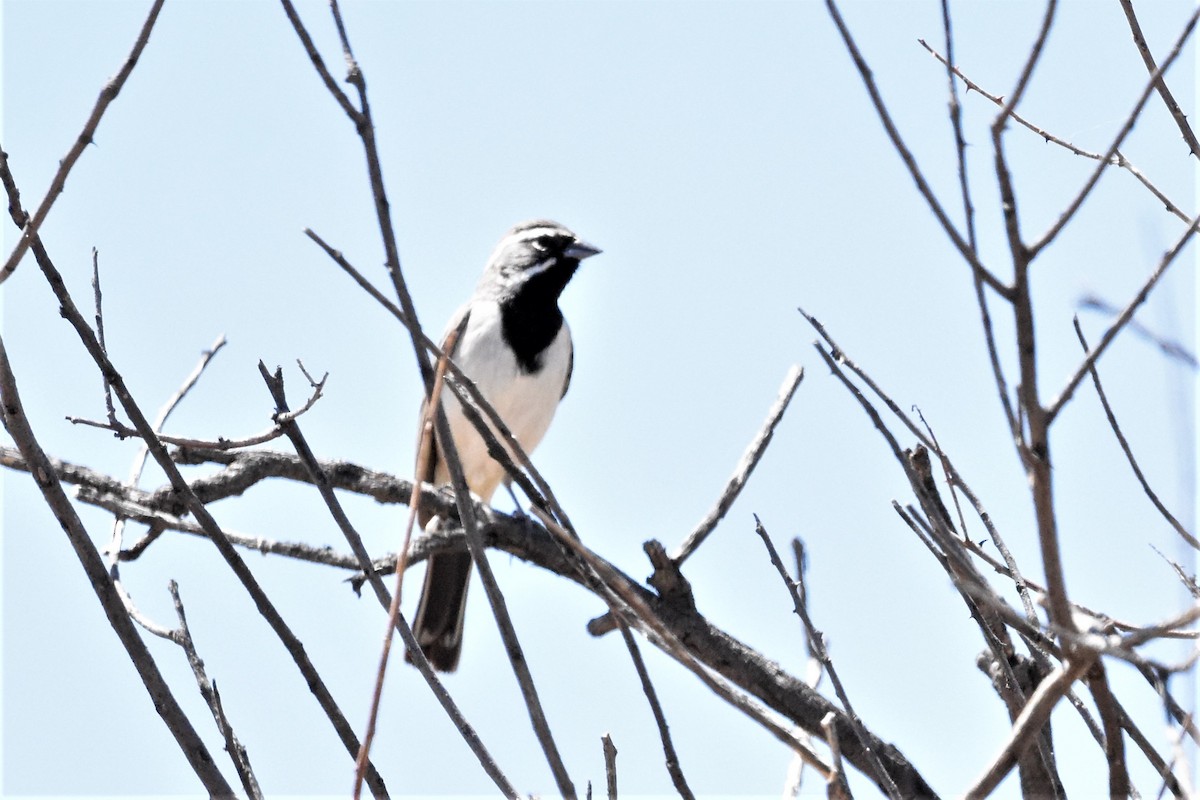
[[[461,314],[455,314],[455,320],[458,319]],[[512,351],[504,345],[500,309],[494,302],[472,305],[470,321],[456,350],[458,367],[475,381],[522,449],[533,452],[554,419],[566,383],[571,360],[571,332],[566,320],[542,353],[542,368],[536,374],[522,372]],[[504,469],[487,455],[487,446],[462,414],[458,399],[450,392],[442,397],[467,485],[481,500],[491,501],[504,480]],[[434,481],[449,480],[445,465],[439,464]]]

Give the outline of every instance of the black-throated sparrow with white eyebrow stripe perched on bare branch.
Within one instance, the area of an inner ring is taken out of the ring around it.
[[[449,335],[469,314],[449,355],[527,453],[550,427],[575,366],[571,330],[558,307],[559,296],[580,261],[598,253],[599,248],[557,222],[522,222],[496,245],[470,299],[446,325]],[[443,392],[442,405],[467,487],[481,501],[491,503],[496,489],[508,485],[504,468],[487,453],[458,398]],[[426,469],[416,477],[434,486],[450,481],[440,445],[430,450]],[[443,524],[440,517],[424,510],[418,519],[426,531]],[[454,672],[462,654],[470,572],[470,554],[466,552],[436,553],[428,559],[413,633],[430,664],[442,672]],[[412,654],[408,660],[413,660]]]

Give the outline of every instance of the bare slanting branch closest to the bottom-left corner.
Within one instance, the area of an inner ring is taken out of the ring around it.
[[[96,546],[92,545],[88,530],[79,519],[79,515],[76,513],[74,507],[67,499],[66,492],[62,489],[62,485],[55,474],[54,465],[47,458],[46,452],[34,435],[34,431],[20,403],[20,395],[17,391],[17,379],[8,363],[8,353],[5,349],[2,337],[0,337],[0,417],[2,417],[4,428],[13,438],[13,441],[17,443],[25,462],[30,465],[29,471],[34,476],[37,488],[46,498],[47,506],[49,506],[50,512],[58,518],[64,533],[67,535],[67,540],[71,542],[79,564],[88,575],[88,581],[96,593],[96,597],[100,600],[106,616],[108,616],[108,624],[121,640],[121,645],[130,655],[133,668],[138,672],[138,676],[142,679],[146,692],[154,702],[155,711],[158,712],[167,729],[175,738],[180,750],[184,752],[184,757],[187,759],[188,765],[191,765],[192,771],[200,780],[204,789],[212,796],[230,796],[233,789],[226,782],[224,776],[221,775],[221,770],[214,763],[212,756],[204,745],[204,740],[200,739],[196,728],[192,727],[187,715],[172,693],[170,686],[167,685],[162,673],[158,672],[158,666],[155,663],[154,656],[150,655],[142,637],[138,636],[138,631],[126,612],[125,603],[113,587],[103,559],[96,551]]]

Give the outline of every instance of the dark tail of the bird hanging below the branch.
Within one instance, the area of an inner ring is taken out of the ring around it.
[[[430,557],[413,633],[434,669],[454,672],[462,654],[462,619],[470,583],[470,553]],[[404,656],[412,662],[412,655]]]

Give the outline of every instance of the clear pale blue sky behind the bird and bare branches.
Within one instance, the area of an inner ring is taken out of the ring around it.
[[[340,50],[323,2],[298,4],[326,60]],[[149,2],[5,0],[2,143],[26,204],[44,191]],[[571,391],[535,456],[582,536],[631,575],[641,543],[673,548],[712,505],[788,366],[808,369],[770,451],[726,522],[688,563],[702,612],[802,672],[803,636],[752,533],[804,537],[812,614],[856,710],[947,796],[1003,741],[1002,706],[973,662],[977,630],[944,573],[890,509],[904,475],[822,366],[797,306],[920,407],[980,494],[1019,563],[1040,575],[1025,479],[986,367],[970,273],[886,140],[823,4],[361,2],[344,18],[366,72],[403,267],[432,331],[474,287],[511,224],[548,216],[605,252],[563,300],[576,342]],[[930,184],[956,222],[940,4],[846,2],[844,12]],[[954,4],[958,60],[1007,94],[1040,19],[1034,2]],[[1141,8],[1165,53],[1189,12]],[[1194,110],[1194,48],[1171,85]],[[1021,112],[1103,151],[1146,80],[1116,2],[1062,4]],[[985,261],[1007,276],[988,124],[964,97]],[[43,236],[82,305],[100,251],[110,354],[155,410],[220,333],[229,344],[170,423],[235,437],[272,410],[256,363],[329,372],[304,419],[318,455],[410,473],[420,389],[407,337],[302,234],[313,228],[384,283],[361,149],[275,2],[168,0],[150,44],[72,173]],[[1032,237],[1092,162],[1013,130],[1020,212]],[[1122,151],[1184,210],[1194,161],[1152,101]],[[1128,174],[1114,172],[1036,269],[1048,393],[1079,361],[1080,296],[1123,305],[1178,235]],[[4,229],[5,252],[12,245]],[[1140,317],[1194,341],[1192,255]],[[1004,335],[1008,320],[994,307]],[[1104,321],[1084,313],[1093,341]],[[103,416],[101,383],[58,317],[32,261],[4,289],[4,331],[26,409],[52,453],[125,475],[132,444],[73,427]],[[1006,350],[1012,363],[1012,348]],[[1100,362],[1127,433],[1166,503],[1190,513],[1193,375],[1136,338]],[[907,443],[906,443],[907,444]],[[1138,489],[1090,387],[1055,432],[1068,589],[1130,621],[1184,600],[1150,545],[1176,539]],[[280,445],[286,449],[286,445]],[[146,483],[160,480],[148,473]],[[198,784],[148,702],[74,557],[28,476],[2,475],[2,789],[6,795],[194,794]],[[374,552],[395,547],[402,507],[347,499]],[[344,545],[317,495],[264,486],[212,507],[228,528]],[[84,509],[97,542],[104,515]],[[979,525],[973,535],[982,537]],[[600,736],[620,752],[623,793],[671,789],[653,720],[620,643],[592,639],[602,610],[574,584],[494,555],[517,631],[568,766],[602,787]],[[250,559],[361,730],[383,619],[342,576]],[[343,794],[350,760],[278,642],[206,542],[158,542],[122,576],[169,621],[176,579],[197,644],[269,795]],[[409,584],[412,585],[412,584]],[[553,783],[528,730],[484,593],[448,686],[523,792]],[[220,757],[182,655],[151,650]],[[694,789],[776,795],[790,759],[769,734],[646,646]],[[1178,651],[1164,651],[1175,657]],[[1162,736],[1132,670],[1118,691]],[[1181,685],[1182,691],[1182,685]],[[400,794],[490,794],[416,674],[396,664],[374,759]],[[1068,789],[1103,790],[1099,751],[1078,716],[1055,717]],[[1142,759],[1130,756],[1144,790]],[[228,772],[232,777],[232,770]],[[858,782],[859,796],[871,796]],[[810,792],[820,790],[809,783]],[[1006,786],[1013,796],[1015,787]]]

